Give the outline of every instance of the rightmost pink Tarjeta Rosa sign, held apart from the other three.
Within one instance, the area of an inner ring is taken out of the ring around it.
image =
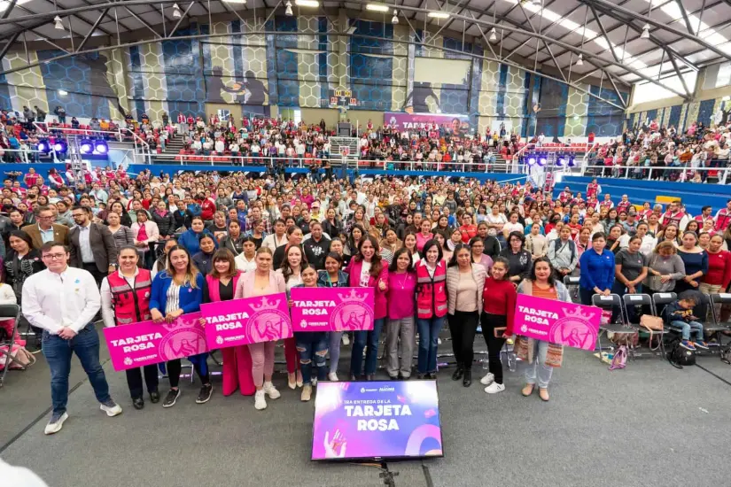
[[[594,350],[602,310],[553,299],[517,295],[513,329],[517,335]]]

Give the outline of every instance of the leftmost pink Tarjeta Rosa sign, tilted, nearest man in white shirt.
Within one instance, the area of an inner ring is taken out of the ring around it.
[[[116,371],[208,352],[200,313],[183,314],[172,323],[140,321],[105,328],[104,336]]]

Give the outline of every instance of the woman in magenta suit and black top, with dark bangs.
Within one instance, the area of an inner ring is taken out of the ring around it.
[[[229,301],[234,298],[238,281],[244,274],[236,268],[234,254],[229,249],[220,249],[214,253],[213,270],[206,275],[206,287],[203,289],[204,303]],[[201,319],[203,320],[203,319]],[[202,321],[205,324],[205,320]],[[252,375],[252,356],[245,345],[227,347],[221,350],[223,358],[224,396],[230,396],[241,390],[244,396],[254,393]]]

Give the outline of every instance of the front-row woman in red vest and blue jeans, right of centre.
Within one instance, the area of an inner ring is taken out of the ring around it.
[[[436,240],[424,243],[424,258],[416,262],[416,328],[419,354],[416,360],[420,379],[437,378],[437,340],[447,314],[447,262]]]

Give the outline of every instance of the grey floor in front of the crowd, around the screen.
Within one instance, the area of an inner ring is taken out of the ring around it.
[[[446,337],[446,336],[445,336]],[[485,345],[478,338],[476,349]],[[104,347],[104,345],[103,345]],[[448,352],[450,342],[441,345]],[[343,347],[346,367],[350,346]],[[282,355],[278,349],[277,354]],[[256,411],[253,398],[214,397],[195,404],[199,384],[182,380],[183,395],[164,409],[132,408],[122,373],[103,348],[113,397],[124,413],[99,411],[89,382],[74,359],[70,419],[45,437],[50,406],[43,355],[26,372],[12,371],[0,389],[0,456],[32,468],[51,487],[261,486],[276,487],[562,487],[727,485],[731,454],[731,366],[717,356],[704,367],[676,370],[642,358],[610,372],[591,353],[568,350],[556,370],[551,401],[524,398],[522,365],[507,372],[507,389],[488,396],[477,367],[469,389],[439,374],[444,459],[383,465],[327,464],[309,460],[314,401],[277,374],[282,398]],[[216,367],[214,367],[215,369]],[[384,374],[381,374],[385,378]],[[345,377],[345,373],[342,374]],[[165,381],[161,383],[161,386]],[[385,483],[383,474],[393,474]],[[0,485],[4,485],[0,479]]]

